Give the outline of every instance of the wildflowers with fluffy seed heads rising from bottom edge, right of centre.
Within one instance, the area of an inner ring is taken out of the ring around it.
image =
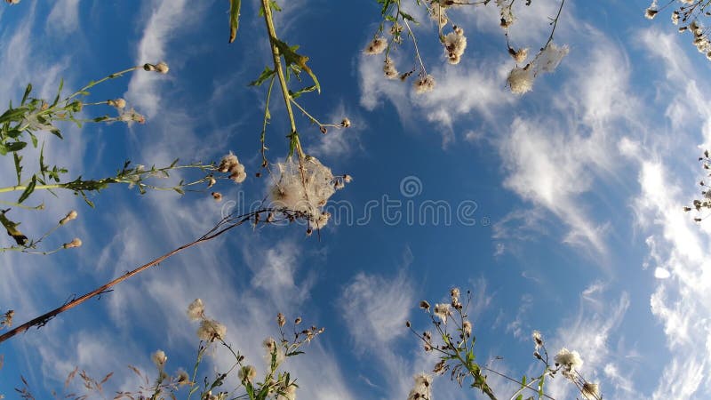
[[[435,303],[434,307],[427,300],[419,302],[419,308],[427,313],[434,331],[419,333],[412,328],[410,321],[406,322],[407,327],[422,342],[424,351],[435,353],[439,357],[439,361],[431,371],[435,375],[449,373],[451,380],[456,381],[459,387],[467,383],[470,388],[481,390],[491,400],[496,400],[497,396],[487,381],[487,373],[492,373],[520,385],[520,388],[512,396],[506,398],[522,400],[523,393],[527,391],[533,392],[539,399],[553,398],[546,394],[545,384],[547,379],[553,379],[557,374],[560,374],[577,388],[582,398],[586,400],[602,399],[598,384],[586,380],[580,374],[579,370],[583,362],[579,353],[563,348],[553,360],[549,359],[543,336],[538,331],[534,331],[531,335],[534,345],[533,356],[543,366],[543,371],[538,376],[531,378],[523,375],[521,380],[516,380],[503,372],[496,371],[489,364],[477,363],[474,326],[467,315],[467,310],[471,305],[471,292],[467,291],[464,303],[460,300],[460,294],[459,288],[452,288],[449,293],[450,301]],[[415,385],[411,389],[408,400],[430,400],[433,398],[430,375],[418,374],[414,380]],[[526,398],[533,398],[533,396]]]

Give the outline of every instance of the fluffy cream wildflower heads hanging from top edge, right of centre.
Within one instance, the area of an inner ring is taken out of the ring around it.
[[[404,12],[402,0],[377,0],[380,6],[380,16],[382,21],[373,34],[363,52],[367,55],[383,55],[383,73],[388,79],[399,78],[402,81],[410,76],[415,76],[413,89],[416,93],[431,92],[435,89],[435,76],[427,73],[425,62],[419,50],[418,39],[412,31],[411,24],[419,24],[411,14]],[[454,21],[458,17],[457,10],[465,6],[487,6],[491,0],[480,1],[459,1],[459,0],[414,0],[412,4],[423,7],[427,15],[435,21],[436,36],[443,47],[444,58],[452,65],[459,64],[467,49],[467,36],[465,29]],[[514,25],[516,17],[514,12],[515,0],[495,0],[494,6],[499,13],[499,26],[504,31],[506,37],[507,52],[515,60],[515,68],[511,70],[507,77],[507,86],[515,94],[530,92],[536,76],[544,72],[553,72],[563,57],[568,54],[567,46],[558,46],[553,43],[555,27],[563,11],[565,0],[561,0],[555,18],[550,19],[551,32],[546,44],[531,61],[525,63],[529,58],[529,49],[525,47],[515,48],[511,44],[509,28]],[[525,6],[530,6],[531,1],[525,2]],[[395,65],[391,52],[395,52],[398,47],[404,44],[403,35],[411,40],[414,52],[414,66],[405,71],[399,71]]]

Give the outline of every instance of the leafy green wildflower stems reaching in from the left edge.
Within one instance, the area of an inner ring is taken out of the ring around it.
[[[67,178],[70,173],[67,168],[57,164],[52,165],[46,159],[44,142],[51,137],[47,138],[44,133],[51,133],[58,140],[63,139],[60,130],[62,123],[70,122],[79,127],[84,124],[112,124],[116,122],[143,124],[145,117],[133,108],[128,108],[124,99],[116,98],[93,102],[88,100],[91,94],[89,91],[93,87],[137,70],[166,74],[169,68],[163,61],[126,68],[99,80],[91,81],[65,97],[62,97],[63,83],[60,82],[59,90],[53,100],[34,97],[32,84],[28,84],[19,105],[13,107],[11,102],[7,110],[0,115],[0,156],[12,155],[16,178],[15,184],[0,188],[0,194],[5,197],[0,199],[0,204],[7,207],[0,209],[0,224],[12,239],[10,244],[0,244],[0,252],[19,251],[50,254],[81,246],[82,241],[75,238],[54,249],[39,249],[40,244],[47,236],[62,228],[70,220],[76,219],[76,211],[69,212],[64,218],[58,219],[57,225],[41,235],[23,232],[20,229],[21,221],[18,219],[21,217],[18,212],[12,212],[13,209],[43,210],[44,203],[42,202],[28,205],[33,201],[32,195],[40,191],[55,194],[56,191],[68,190],[76,196],[81,196],[86,204],[93,207],[90,195],[98,194],[102,189],[111,185],[124,184],[128,188],[137,188],[140,194],[145,194],[148,190],[172,190],[182,195],[187,190],[195,190],[196,185],[203,184],[205,181],[214,181],[216,177],[227,178],[220,176],[218,168],[214,164],[179,164],[178,160],[169,165],[152,165],[150,167],[140,164],[134,165],[130,161],[126,161],[112,176],[87,179],[81,174],[75,174],[75,178]],[[93,113],[94,116],[87,116],[92,110],[98,112]],[[30,144],[31,147],[28,147]],[[31,148],[39,150],[38,163],[34,172],[27,173],[26,169],[29,167],[24,159]],[[170,178],[172,172],[182,171],[196,172],[197,177],[190,181],[159,183],[159,180]],[[8,196],[12,197],[8,198]]]

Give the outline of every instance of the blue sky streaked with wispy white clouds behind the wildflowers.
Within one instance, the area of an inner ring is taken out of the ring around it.
[[[207,192],[140,196],[125,187],[92,198],[95,209],[71,194],[45,197],[47,208],[22,214],[23,226],[43,232],[76,209],[80,218],[52,240],[79,236],[84,245],[50,257],[0,254],[0,309],[14,309],[16,324],[200,236],[229,200],[264,195],[265,179],[252,175],[264,90],[246,85],[270,62],[257,4],[244,2],[231,45],[223,2],[0,8],[0,103],[19,100],[29,82],[49,97],[62,77],[68,91],[144,62],[171,66],[166,76],[137,72],[93,91],[95,100],[124,97],[148,122],[66,126],[65,140],[46,140],[56,164],[99,177],[126,159],[188,163],[232,150],[250,172],[244,184],[224,186],[221,204]],[[494,7],[458,12],[468,46],[457,66],[444,62],[435,26],[415,12],[437,82],[434,92],[416,95],[411,84],[385,80],[381,60],[362,52],[379,22],[376,4],[282,5],[280,35],[301,45],[323,86],[303,103],[324,120],[353,123],[324,136],[298,120],[308,153],[354,177],[332,199],[351,204],[356,220],[384,198],[403,212],[427,201],[452,210],[468,204],[473,222],[393,223],[377,208],[367,223],[332,223],[320,238],[299,226],[237,228],[0,345],[0,394],[12,398],[22,374],[38,398],[49,396],[76,365],[97,376],[113,371],[112,389],[131,388],[126,365],[149,371],[156,348],[168,354],[170,371],[188,368],[197,340],[184,310],[202,298],[228,326],[228,341],[255,364],[277,311],[326,328],[307,355],[287,364],[300,398],[406,398],[412,374],[435,360],[404,321],[424,329],[419,300],[446,300],[457,285],[474,292],[479,359],[503,356],[502,371],[535,371],[530,334],[538,329],[551,351],[580,352],[582,372],[606,398],[705,398],[711,229],[682,207],[697,194],[696,159],[711,140],[703,95],[711,65],[691,35],[675,32],[668,12],[650,21],[642,1],[568,2],[555,42],[570,53],[523,96],[505,86],[514,61]],[[536,49],[557,2],[520,8],[512,40]],[[272,115],[276,162],[286,152],[288,122],[276,103]],[[2,162],[10,171],[11,161]],[[0,183],[13,179],[6,173]],[[658,268],[670,276],[655,277]],[[492,383],[502,396],[511,391]],[[574,397],[564,382],[549,390]],[[435,398],[471,397],[446,377],[435,380]]]

